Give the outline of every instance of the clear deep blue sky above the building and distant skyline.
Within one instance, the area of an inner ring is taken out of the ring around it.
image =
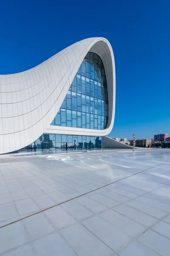
[[[116,64],[109,136],[170,135],[169,0],[5,0],[0,9],[0,74],[27,70],[84,38],[105,37]]]

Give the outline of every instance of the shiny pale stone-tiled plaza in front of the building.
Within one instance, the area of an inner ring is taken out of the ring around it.
[[[170,255],[170,150],[0,156],[0,256]]]

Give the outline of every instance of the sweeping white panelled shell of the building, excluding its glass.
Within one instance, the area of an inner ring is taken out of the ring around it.
[[[50,125],[88,52],[102,59],[108,87],[108,125],[104,130]],[[88,38],[63,49],[30,70],[0,75],[0,154],[16,151],[42,134],[104,136],[115,113],[115,64],[105,38]]]

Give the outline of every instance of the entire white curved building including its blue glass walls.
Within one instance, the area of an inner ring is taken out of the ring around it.
[[[88,38],[30,70],[0,75],[0,154],[101,148],[115,113],[115,64]]]

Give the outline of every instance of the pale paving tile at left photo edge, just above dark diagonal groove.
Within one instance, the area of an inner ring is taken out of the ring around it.
[[[19,217],[14,203],[0,205],[0,221],[5,221],[11,218]]]

